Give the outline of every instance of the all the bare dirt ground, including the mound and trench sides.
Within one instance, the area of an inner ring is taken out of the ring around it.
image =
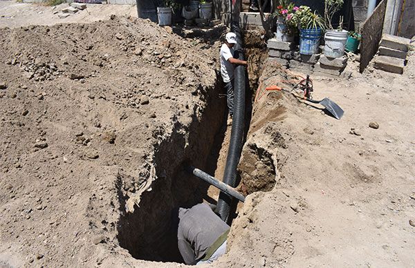
[[[167,214],[205,191],[183,162],[223,173],[223,29],[183,39],[135,7],[87,10],[64,21],[0,1],[0,267],[184,266],[160,262],[176,260]],[[239,164],[250,195],[213,266],[413,266],[415,56],[404,75],[347,68],[312,77],[340,120],[284,93],[254,104]],[[295,78],[267,61],[259,90]]]

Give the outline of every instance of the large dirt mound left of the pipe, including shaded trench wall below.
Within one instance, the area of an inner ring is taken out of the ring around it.
[[[0,264],[174,260],[158,238],[200,201],[181,164],[221,126],[219,44],[127,18],[0,36]]]

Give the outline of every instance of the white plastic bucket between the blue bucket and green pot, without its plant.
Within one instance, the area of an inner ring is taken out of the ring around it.
[[[344,55],[344,46],[347,41],[347,30],[341,32],[328,30],[324,35],[324,56],[339,58]]]

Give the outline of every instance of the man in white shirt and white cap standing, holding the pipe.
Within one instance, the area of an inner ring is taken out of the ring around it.
[[[247,66],[247,61],[241,61],[234,58],[234,45],[237,44],[237,35],[234,32],[228,32],[225,36],[225,44],[221,46],[221,75],[225,83],[226,97],[230,119],[228,125],[232,122],[233,103],[234,103],[234,64]]]

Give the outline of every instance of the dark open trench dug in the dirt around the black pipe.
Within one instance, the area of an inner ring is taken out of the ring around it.
[[[257,71],[264,50],[250,48],[252,59],[256,58],[251,86],[257,86]],[[249,55],[248,55],[249,57]],[[155,153],[157,179],[151,191],[142,193],[140,205],[133,213],[124,213],[118,224],[118,242],[133,258],[160,262],[183,262],[177,247],[178,207],[192,207],[203,200],[216,204],[217,196],[212,194],[209,184],[184,170],[188,164],[216,175],[222,179],[225,166],[230,127],[226,127],[225,98],[220,75],[216,77],[216,88],[208,90],[205,109],[200,121],[194,115],[188,129],[177,126],[172,136],[163,141]],[[246,133],[248,133],[252,112],[252,91],[247,90]],[[187,133],[187,135],[186,135]],[[187,144],[186,144],[187,143]],[[209,190],[209,191],[208,191]],[[260,190],[260,189],[259,189]],[[217,191],[219,193],[219,191]]]

